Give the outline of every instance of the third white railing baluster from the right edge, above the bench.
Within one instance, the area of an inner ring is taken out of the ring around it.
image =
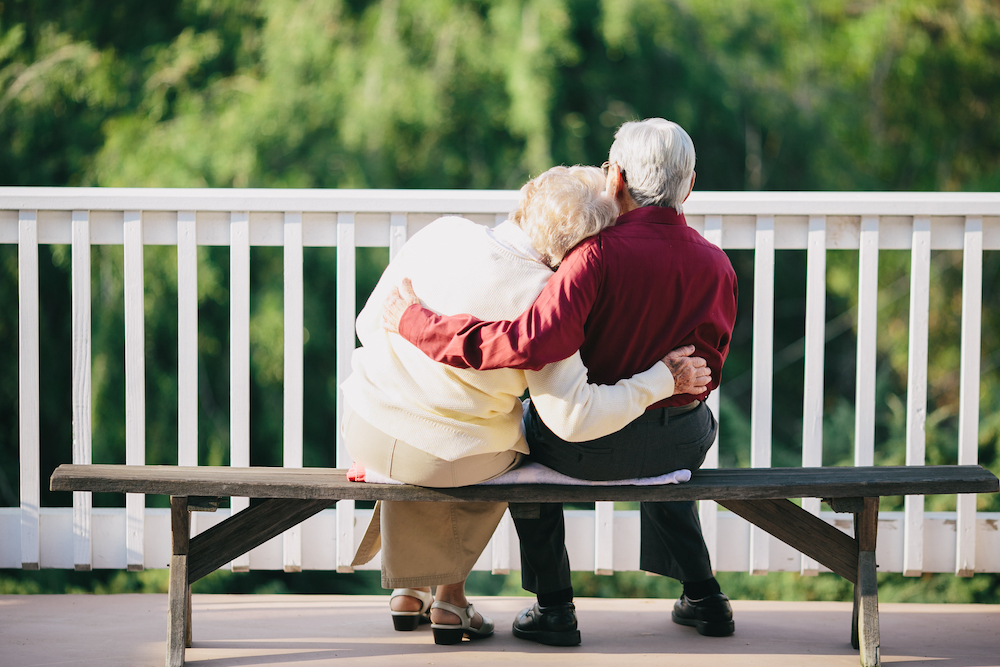
[[[854,465],[875,461],[875,341],[878,329],[878,218],[861,218],[858,256],[858,357]]]

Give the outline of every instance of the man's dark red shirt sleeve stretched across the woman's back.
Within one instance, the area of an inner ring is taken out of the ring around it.
[[[584,324],[601,286],[598,246],[584,243],[516,320],[448,317],[413,305],[400,318],[399,333],[431,359],[455,368],[540,370],[566,359],[583,344]]]

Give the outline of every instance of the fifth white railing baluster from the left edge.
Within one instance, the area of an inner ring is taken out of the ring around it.
[[[250,465],[250,214],[229,214],[229,464]],[[233,497],[230,513],[250,507]],[[233,572],[250,570],[250,554],[233,560]]]

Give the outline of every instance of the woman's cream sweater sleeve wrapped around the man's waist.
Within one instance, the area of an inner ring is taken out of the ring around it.
[[[587,383],[580,352],[525,373],[531,402],[545,425],[568,442],[584,442],[625,428],[674,393],[674,377],[661,361],[614,385]]]

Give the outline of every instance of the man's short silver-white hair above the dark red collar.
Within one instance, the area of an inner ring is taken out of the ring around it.
[[[691,137],[677,123],[647,118],[625,123],[608,155],[625,172],[628,193],[639,206],[669,206],[678,213],[694,173]]]

